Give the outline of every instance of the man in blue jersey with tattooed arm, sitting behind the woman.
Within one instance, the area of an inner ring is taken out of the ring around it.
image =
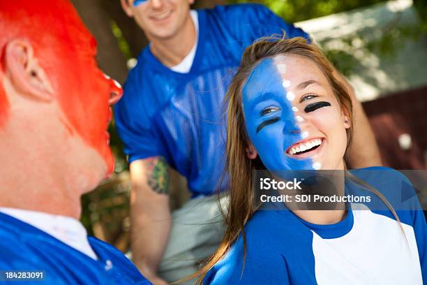
[[[150,41],[130,71],[114,114],[133,184],[132,248],[135,264],[154,283],[197,270],[223,231],[217,190],[228,189],[224,169],[223,98],[246,46],[257,38],[308,34],[256,4],[190,10],[193,0],[121,0],[123,10]],[[351,88],[349,88],[351,89]],[[360,103],[352,167],[380,164]],[[172,215],[167,169],[186,177],[192,199]],[[196,205],[200,205],[196,207]],[[207,225],[211,225],[210,227]]]

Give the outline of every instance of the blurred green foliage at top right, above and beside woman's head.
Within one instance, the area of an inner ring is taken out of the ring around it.
[[[301,22],[317,17],[345,12],[384,0],[229,0],[227,3],[261,3],[269,7],[287,22]],[[407,41],[417,41],[427,34],[425,0],[414,0],[414,8],[420,15],[419,25],[401,25],[401,13],[384,27],[355,31],[353,34],[340,37],[340,45],[334,45],[335,38],[324,38],[320,42],[324,53],[334,63],[336,68],[346,76],[352,75],[360,67],[360,59],[374,52],[381,57],[394,57],[398,48],[403,47]],[[332,44],[331,44],[332,43]],[[404,43],[404,44],[402,44]],[[356,56],[359,54],[359,57]],[[362,55],[361,55],[362,54]]]

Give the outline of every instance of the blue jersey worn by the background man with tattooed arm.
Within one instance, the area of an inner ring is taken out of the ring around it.
[[[164,156],[188,180],[193,196],[227,188],[227,87],[244,49],[271,34],[308,35],[264,6],[241,4],[198,10],[199,38],[189,73],[177,73],[145,48],[128,75],[115,119],[131,163]],[[218,188],[219,187],[219,188]]]

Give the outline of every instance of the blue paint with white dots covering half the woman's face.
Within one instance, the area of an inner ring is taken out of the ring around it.
[[[286,154],[287,149],[308,134],[299,127],[304,119],[292,105],[292,101],[297,100],[295,95],[285,89],[290,85],[282,76],[288,72],[285,69],[285,64],[268,58],[260,61],[250,73],[243,88],[246,129],[268,170],[275,173],[313,170],[312,159],[295,159]]]

